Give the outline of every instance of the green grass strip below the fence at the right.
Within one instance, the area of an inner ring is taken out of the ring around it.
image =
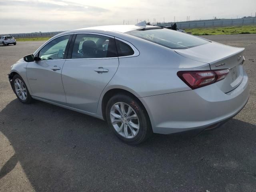
[[[215,28],[193,28],[193,29],[185,29],[185,31],[192,32],[192,35],[250,34],[250,33],[256,33],[256,25],[215,27]]]

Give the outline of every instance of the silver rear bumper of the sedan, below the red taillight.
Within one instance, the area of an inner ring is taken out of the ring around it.
[[[224,93],[216,84],[170,94],[140,98],[147,109],[153,132],[173,134],[201,132],[220,126],[244,108],[249,98],[248,76]]]

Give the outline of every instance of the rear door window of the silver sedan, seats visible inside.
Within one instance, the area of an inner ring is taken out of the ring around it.
[[[72,50],[72,59],[117,57],[114,38],[94,34],[78,34]]]

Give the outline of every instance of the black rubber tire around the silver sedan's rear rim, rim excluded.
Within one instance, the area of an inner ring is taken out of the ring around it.
[[[111,118],[110,118],[110,111],[114,104],[117,102],[124,102],[132,107],[138,116],[138,120],[140,122],[138,134],[134,136],[134,138],[125,138],[124,136],[118,134],[115,130],[114,126],[112,125]],[[144,106],[140,103],[138,98],[134,98],[133,96],[127,94],[117,94],[108,100],[106,106],[106,120],[108,122],[109,127],[114,131],[116,136],[120,138],[122,141],[126,142],[127,144],[139,144],[144,142],[152,133],[152,126],[150,119],[148,117],[148,113]]]

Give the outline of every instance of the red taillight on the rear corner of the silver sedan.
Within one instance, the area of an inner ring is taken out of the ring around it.
[[[229,70],[179,71],[177,75],[190,88],[196,89],[224,79]]]

